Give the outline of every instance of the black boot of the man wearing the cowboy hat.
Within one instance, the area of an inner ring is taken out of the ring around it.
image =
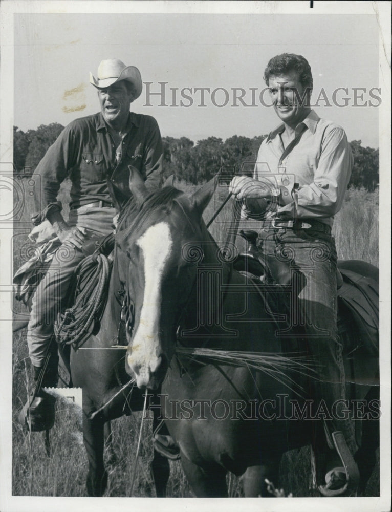
[[[18,416],[18,421],[31,432],[50,430],[54,424],[54,404],[56,398],[42,388],[57,386],[57,368],[48,367],[43,372],[42,367],[34,368],[35,389],[31,391],[27,402]]]

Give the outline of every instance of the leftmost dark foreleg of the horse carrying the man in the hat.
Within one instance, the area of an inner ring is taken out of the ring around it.
[[[107,485],[103,464],[103,425],[103,419],[90,420],[83,414],[83,441],[89,459],[86,488],[88,495],[93,497],[102,496]]]

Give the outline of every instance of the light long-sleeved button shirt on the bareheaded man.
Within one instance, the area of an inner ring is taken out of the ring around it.
[[[254,179],[274,184],[273,216],[282,220],[317,219],[332,226],[342,206],[353,168],[353,154],[344,130],[312,110],[284,148],[281,124],[260,145]]]

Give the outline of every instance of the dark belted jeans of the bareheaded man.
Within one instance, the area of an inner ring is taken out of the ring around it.
[[[290,267],[289,327],[279,335],[301,338],[301,350],[307,351],[317,371],[312,379],[315,401],[324,400],[332,418],[326,417],[329,429],[343,431],[351,443],[351,426],[342,419],[343,404],[338,402],[345,399],[345,378],[337,332],[335,240],[311,229],[282,228],[262,229],[257,243],[267,264],[272,255]],[[278,282],[277,274],[272,278]]]

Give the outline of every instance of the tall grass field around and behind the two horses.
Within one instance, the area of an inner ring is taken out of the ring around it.
[[[180,184],[180,188],[191,191],[195,187]],[[28,189],[26,180],[26,190]],[[67,185],[60,191],[60,199],[67,202]],[[226,189],[217,191],[216,204],[227,194]],[[26,192],[27,204],[20,222],[28,222],[31,205]],[[205,219],[209,219],[214,211],[214,201],[210,203]],[[66,211],[67,214],[67,211]],[[211,233],[219,242],[224,242],[222,235],[224,223],[229,222],[230,204],[219,216],[219,222],[212,224]],[[378,194],[369,194],[363,190],[349,190],[342,210],[336,216],[334,234],[340,259],[365,260],[374,265],[378,264]],[[14,229],[14,269],[23,262],[24,244],[29,228],[20,228],[20,223]],[[238,241],[242,250],[242,241]],[[15,311],[24,307],[15,303]],[[43,434],[28,434],[16,422],[17,412],[26,400],[27,389],[32,385],[32,372],[28,360],[26,331],[18,332],[13,339],[13,466],[12,489],[15,496],[86,496],[85,475],[87,458],[81,445],[80,425],[73,413],[71,404],[57,400],[56,422],[51,431],[51,455],[45,451]],[[142,449],[140,459],[135,467],[137,436],[141,414],[123,417],[113,422],[114,450],[117,456],[116,464],[108,465],[109,483],[105,496],[129,496],[130,481],[136,472],[133,496],[154,496],[153,482],[149,474],[148,464],[152,458],[151,421],[144,422],[142,433]],[[274,482],[275,486],[283,487],[286,494],[294,496],[312,496],[308,487],[309,449],[303,447],[299,451],[288,452],[281,461],[281,481]],[[170,462],[170,480],[168,496],[190,497],[191,489],[182,472],[180,462]],[[238,480],[228,477],[230,495],[241,495]],[[378,475],[374,472],[369,482],[367,494],[378,492]]]

